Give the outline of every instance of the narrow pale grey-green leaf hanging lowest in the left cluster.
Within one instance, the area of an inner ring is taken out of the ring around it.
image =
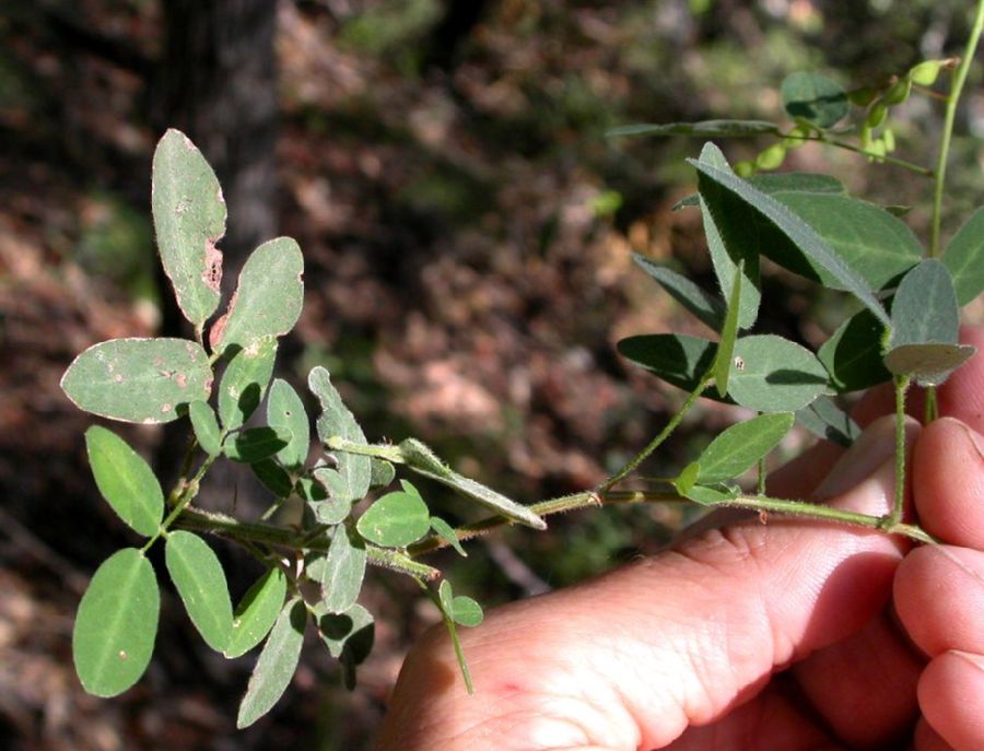
[[[286,691],[301,659],[306,625],[304,602],[300,598],[290,600],[280,611],[249,677],[236,717],[238,729],[249,727],[267,714]]]

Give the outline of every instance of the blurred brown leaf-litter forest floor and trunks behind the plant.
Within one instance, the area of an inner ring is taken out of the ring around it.
[[[166,576],[154,661],[118,699],[86,696],[74,609],[132,544],[98,497],[91,420],[58,382],[87,345],[181,333],[157,270],[150,161],[187,132],[229,203],[225,280],[278,234],[305,254],[306,301],[280,375],[325,365],[371,441],[415,435],[454,466],[531,502],[600,481],[682,395],[630,369],[614,342],[707,336],[631,261],[713,286],[682,163],[700,143],[605,137],[639,121],[781,118],[778,84],[813,69],[846,85],[954,54],[967,0],[5,0],[0,7],[0,748],[368,748],[408,645],[437,620],[412,582],[371,572],[376,649],[354,693],[320,645],[273,712],[234,729],[254,657],[210,654]],[[984,94],[958,124],[948,231],[981,202]],[[938,105],[897,110],[899,154],[932,164]],[[734,160],[768,142],[725,141]],[[929,184],[805,146],[787,167],[831,171],[855,195],[913,207]],[[817,345],[840,297],[773,271],[761,331]],[[970,315],[981,316],[981,306]],[[703,406],[661,451],[670,474],[736,419]],[[172,431],[114,426],[167,476]],[[797,448],[796,441],[786,450]],[[443,516],[475,518],[426,486]],[[248,477],[203,502],[249,515]],[[443,554],[484,605],[563,586],[663,544],[677,507],[571,514]],[[234,599],[255,568],[220,544]],[[155,559],[155,563],[160,560]],[[159,573],[162,570],[159,568]]]

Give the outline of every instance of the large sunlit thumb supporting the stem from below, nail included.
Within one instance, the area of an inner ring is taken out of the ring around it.
[[[876,421],[832,470],[841,480],[827,490],[853,486],[831,504],[887,513],[892,454],[891,422]],[[401,749],[493,738],[503,751],[661,748],[858,631],[886,603],[901,554],[885,535],[818,521],[711,530],[491,611],[461,634],[475,696],[432,634],[403,666],[384,738]]]

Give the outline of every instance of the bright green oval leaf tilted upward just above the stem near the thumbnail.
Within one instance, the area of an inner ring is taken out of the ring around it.
[[[736,478],[754,467],[793,427],[792,412],[760,414],[719,433],[701,454],[696,483]]]

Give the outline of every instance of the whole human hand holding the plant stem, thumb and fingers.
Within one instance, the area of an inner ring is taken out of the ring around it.
[[[816,447],[772,492],[886,513],[890,403],[869,395],[855,445]],[[774,516],[707,529],[459,630],[475,695],[435,627],[378,751],[984,749],[984,355],[939,404],[907,427],[907,503],[942,544]]]

